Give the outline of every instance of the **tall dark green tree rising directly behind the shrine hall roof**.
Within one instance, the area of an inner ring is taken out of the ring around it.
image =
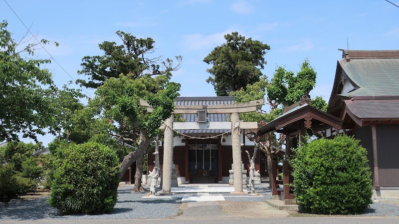
[[[217,96],[228,96],[231,91],[246,88],[259,81],[264,68],[266,50],[270,46],[252,38],[245,39],[238,32],[224,35],[226,43],[215,47],[203,61],[212,64],[206,69],[211,74],[206,82],[212,83]]]

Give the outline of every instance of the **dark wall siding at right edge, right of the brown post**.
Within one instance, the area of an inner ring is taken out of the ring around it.
[[[380,186],[399,186],[399,125],[376,125]]]

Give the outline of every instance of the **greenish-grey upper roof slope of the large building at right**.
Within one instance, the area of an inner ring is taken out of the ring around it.
[[[339,64],[359,88],[342,96],[398,96],[399,58],[342,58]]]

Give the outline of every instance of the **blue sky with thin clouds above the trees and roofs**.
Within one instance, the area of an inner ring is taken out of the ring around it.
[[[390,1],[399,6],[399,0]],[[59,87],[86,79],[77,74],[82,58],[102,55],[98,44],[103,41],[121,43],[117,30],[153,38],[154,56],[183,56],[172,77],[182,84],[181,96],[215,96],[205,82],[211,65],[203,58],[234,31],[270,45],[262,70],[269,79],[277,66],[296,72],[308,58],[317,72],[310,95],[327,101],[342,57],[339,48],[399,49],[399,7],[386,0],[0,0],[0,19],[19,40],[27,29],[7,3],[37,39],[59,43],[45,45],[53,58],[47,68]],[[35,53],[51,58],[44,49]],[[93,89],[83,91],[94,96]],[[44,145],[53,138],[38,136]]]

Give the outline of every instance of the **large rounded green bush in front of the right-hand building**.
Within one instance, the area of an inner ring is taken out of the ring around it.
[[[346,135],[317,139],[295,150],[294,193],[303,212],[360,214],[372,204],[372,180],[359,141]]]

